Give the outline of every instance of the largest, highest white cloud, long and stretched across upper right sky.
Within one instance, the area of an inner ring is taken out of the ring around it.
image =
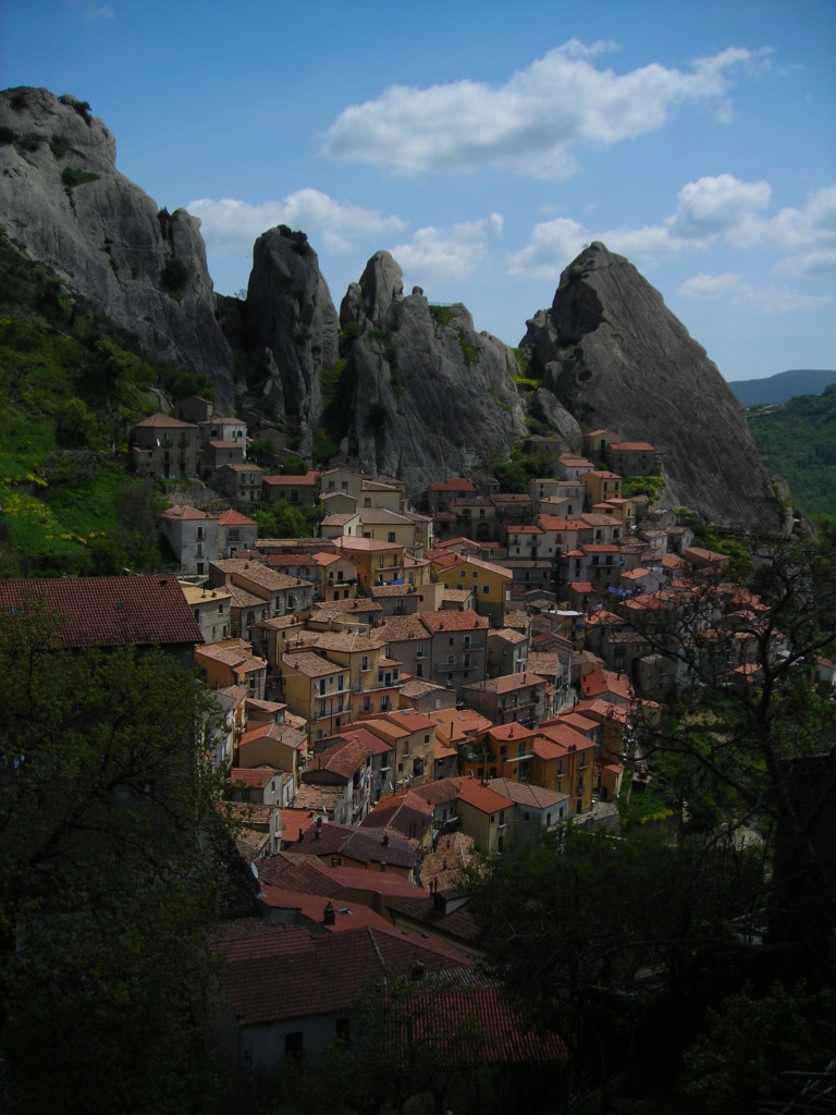
[[[593,59],[613,48],[572,39],[503,86],[467,79],[424,89],[390,86],[346,108],[322,152],[405,175],[493,165],[567,177],[575,169],[572,148],[654,132],[680,104],[709,105],[727,118],[731,72],[768,58],[768,51],[733,48],[687,70],[658,62],[628,74],[597,69]]]

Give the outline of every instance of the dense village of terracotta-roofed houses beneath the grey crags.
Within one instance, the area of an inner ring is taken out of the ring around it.
[[[193,497],[158,523],[178,576],[42,588],[65,644],[164,646],[214,695],[205,744],[229,772],[261,913],[224,929],[217,1039],[231,1064],[270,1068],[347,1032],[381,958],[414,972],[473,968],[459,873],[474,850],[618,827],[619,801],[652,780],[635,719],[690,682],[659,653],[660,618],[704,604],[700,652],[723,683],[746,687],[762,605],[674,513],[623,495],[623,477],[653,477],[660,463],[614,430],[587,433],[585,456],[533,438],[553,467],[527,493],[451,477],[415,511],[402,483],[349,465],[265,475],[247,459],[244,420],[197,398],[178,414],[130,437],[138,474],[178,477]],[[259,537],[246,512],[278,501],[319,507],[319,536]],[[28,584],[4,582],[6,602]],[[834,665],[818,669],[833,685]],[[292,966],[304,996],[265,1007],[270,957]],[[529,1063],[509,1009],[489,1012],[496,1057]],[[556,1048],[535,1059],[560,1059]]]

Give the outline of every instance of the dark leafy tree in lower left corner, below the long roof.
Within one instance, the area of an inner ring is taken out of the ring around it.
[[[0,617],[0,1095],[20,1113],[189,1109],[223,910],[206,697],[163,652],[67,651]]]

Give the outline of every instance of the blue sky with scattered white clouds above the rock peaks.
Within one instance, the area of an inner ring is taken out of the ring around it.
[[[509,345],[591,240],[727,379],[836,367],[836,4],[0,0],[0,85],[88,100],[215,289],[304,230]]]

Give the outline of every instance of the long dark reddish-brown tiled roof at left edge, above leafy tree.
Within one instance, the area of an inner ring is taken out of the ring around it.
[[[67,576],[0,581],[0,610],[57,613],[62,647],[166,647],[203,636],[174,576]]]

